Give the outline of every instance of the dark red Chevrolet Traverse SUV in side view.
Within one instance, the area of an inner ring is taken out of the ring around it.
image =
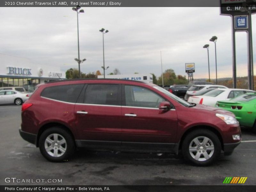
[[[235,116],[190,104],[155,84],[116,79],[41,84],[22,105],[20,135],[49,161],[75,148],[182,152],[197,165],[241,142]]]

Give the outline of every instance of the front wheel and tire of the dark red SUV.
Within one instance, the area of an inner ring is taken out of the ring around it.
[[[208,142],[203,142],[204,139],[208,140]],[[195,141],[199,142],[196,144]],[[184,139],[181,147],[185,160],[199,166],[212,164],[221,151],[221,143],[217,135],[212,131],[204,129],[196,129],[190,132]],[[193,151],[190,152],[189,147]]]

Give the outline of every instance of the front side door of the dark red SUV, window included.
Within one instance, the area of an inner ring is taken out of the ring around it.
[[[174,142],[177,114],[174,108],[159,109],[162,101],[166,100],[147,88],[122,86],[122,146]]]

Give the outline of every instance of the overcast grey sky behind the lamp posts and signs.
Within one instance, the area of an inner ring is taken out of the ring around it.
[[[84,7],[79,14],[80,58],[84,73],[103,66],[104,36],[106,73],[118,68],[122,74],[154,73],[172,68],[186,75],[185,63],[194,62],[194,78],[208,78],[207,50],[210,44],[210,73],[215,78],[214,43],[217,36],[218,77],[232,76],[231,18],[218,7]],[[29,58],[33,63],[78,68],[77,20],[71,7],[0,8],[0,53]],[[254,71],[256,71],[256,14],[252,16]],[[247,76],[246,33],[236,33],[237,76]],[[2,64],[1,64],[2,65]],[[103,73],[103,72],[102,72]]]

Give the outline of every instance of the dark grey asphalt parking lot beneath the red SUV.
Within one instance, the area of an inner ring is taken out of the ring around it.
[[[209,167],[192,166],[172,154],[84,150],[68,162],[51,163],[20,137],[20,110],[21,106],[0,106],[0,185],[223,185],[226,177],[248,177],[244,185],[256,185],[256,135],[247,129],[242,129],[243,142],[234,153]],[[40,182],[5,182],[13,177]]]

